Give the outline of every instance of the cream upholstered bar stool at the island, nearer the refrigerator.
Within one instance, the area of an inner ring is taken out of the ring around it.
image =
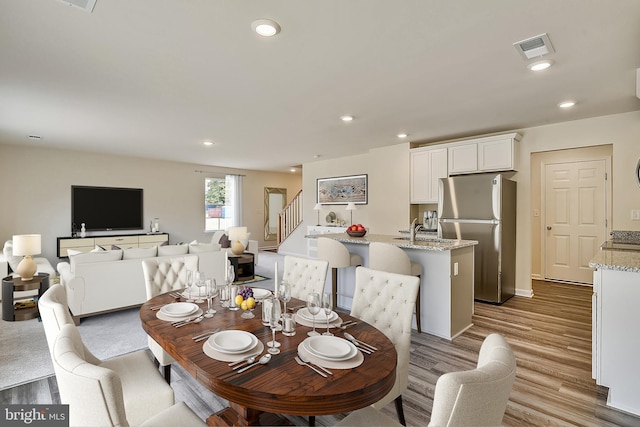
[[[422,265],[412,262],[402,249],[389,243],[372,242],[369,244],[369,268],[386,271],[388,273],[404,274],[406,276],[422,275]],[[420,288],[416,298],[416,325],[420,326]]]

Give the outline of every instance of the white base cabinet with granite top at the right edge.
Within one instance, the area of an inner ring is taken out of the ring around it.
[[[592,376],[607,405],[640,415],[640,252],[601,250],[591,260]]]

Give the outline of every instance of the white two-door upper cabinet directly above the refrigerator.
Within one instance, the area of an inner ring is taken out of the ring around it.
[[[447,144],[449,174],[518,170],[520,135],[489,136]]]

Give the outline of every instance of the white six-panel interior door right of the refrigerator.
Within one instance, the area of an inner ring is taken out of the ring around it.
[[[606,163],[545,165],[545,277],[593,283],[589,261],[606,234]]]

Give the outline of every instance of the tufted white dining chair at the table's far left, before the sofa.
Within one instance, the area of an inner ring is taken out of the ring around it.
[[[147,300],[156,295],[187,287],[187,270],[198,269],[197,255],[173,257],[168,260],[149,258],[142,261],[142,272],[147,290]],[[149,350],[158,366],[162,367],[167,383],[171,383],[171,364],[175,362],[153,338],[147,336]]]

